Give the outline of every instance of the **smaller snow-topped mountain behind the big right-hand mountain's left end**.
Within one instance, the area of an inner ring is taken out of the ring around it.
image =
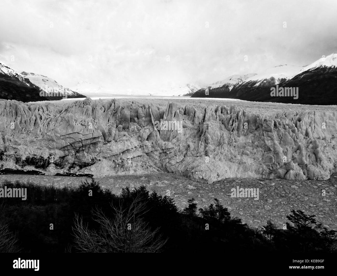
[[[245,74],[245,75],[232,75],[224,80],[211,83],[207,87],[203,87],[196,91],[191,97],[192,98],[228,98],[228,93],[235,88],[237,85],[245,81],[246,79],[253,77],[255,73]],[[206,90],[208,94],[206,95]]]

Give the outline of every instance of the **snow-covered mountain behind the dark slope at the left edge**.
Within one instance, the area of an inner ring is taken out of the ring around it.
[[[32,83],[34,83],[42,90],[48,91],[48,89],[52,89],[53,91],[64,92],[66,93],[67,98],[86,98],[86,96],[79,94],[78,92],[74,92],[69,88],[63,87],[61,84],[59,84],[56,80],[52,78],[27,72],[21,72],[21,75],[28,77]]]

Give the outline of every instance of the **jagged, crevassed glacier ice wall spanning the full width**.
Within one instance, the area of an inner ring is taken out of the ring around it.
[[[62,104],[0,100],[0,169],[97,177],[172,172],[208,183],[231,177],[326,180],[337,172],[336,109],[158,106],[90,98]],[[181,121],[182,130],[155,128],[161,120]]]

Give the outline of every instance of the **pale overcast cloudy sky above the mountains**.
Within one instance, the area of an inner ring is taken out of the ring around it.
[[[336,10],[336,0],[0,0],[0,60],[67,87],[209,84],[337,52]]]

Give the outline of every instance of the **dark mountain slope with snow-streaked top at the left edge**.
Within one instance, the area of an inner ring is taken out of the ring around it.
[[[61,97],[60,97],[61,98]],[[35,102],[49,100],[26,76],[0,62],[0,99]],[[53,100],[58,100],[53,97]]]

